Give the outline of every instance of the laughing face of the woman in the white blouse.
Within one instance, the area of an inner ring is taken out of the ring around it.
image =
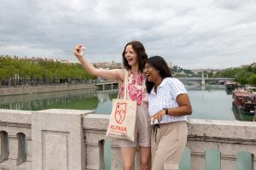
[[[146,63],[144,69],[143,69],[143,73],[145,75],[145,77],[147,77],[148,82],[158,82],[160,79],[162,79],[160,77],[160,71],[156,70],[152,65],[149,65],[148,63]]]

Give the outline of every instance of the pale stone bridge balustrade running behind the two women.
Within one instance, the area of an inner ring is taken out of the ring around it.
[[[0,169],[104,169],[108,120],[108,115],[94,111],[0,110]],[[192,119],[188,126],[192,170],[205,169],[208,149],[220,150],[222,170],[236,169],[236,157],[241,151],[252,154],[255,169],[255,122]],[[113,144],[111,169],[122,169],[119,148]]]

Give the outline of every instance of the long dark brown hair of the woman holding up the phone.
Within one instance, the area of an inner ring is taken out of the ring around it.
[[[137,61],[138,61],[138,70],[143,72],[144,65],[146,63],[146,60],[148,59],[148,54],[146,54],[145,48],[143,46],[143,43],[142,42],[138,42],[138,41],[128,42],[125,45],[125,48],[128,45],[131,45],[131,47],[136,52],[136,54],[137,54]],[[124,49],[122,55],[123,55],[123,64],[125,66],[125,69],[126,70],[130,70],[131,69],[131,65],[129,65],[127,59],[125,59],[125,49]]]

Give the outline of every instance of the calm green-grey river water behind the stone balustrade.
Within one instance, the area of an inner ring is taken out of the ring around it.
[[[252,121],[253,116],[244,116],[232,109],[232,95],[223,86],[214,88],[189,88],[192,104],[192,119]],[[96,114],[110,114],[112,99],[116,98],[117,89],[113,90],[73,90],[65,92],[0,96],[0,109],[40,111],[46,109],[94,110]],[[110,149],[105,144],[106,169],[110,169]]]

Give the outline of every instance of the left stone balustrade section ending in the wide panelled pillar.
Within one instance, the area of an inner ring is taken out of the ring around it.
[[[0,170],[84,170],[82,121],[89,113],[0,109]]]

